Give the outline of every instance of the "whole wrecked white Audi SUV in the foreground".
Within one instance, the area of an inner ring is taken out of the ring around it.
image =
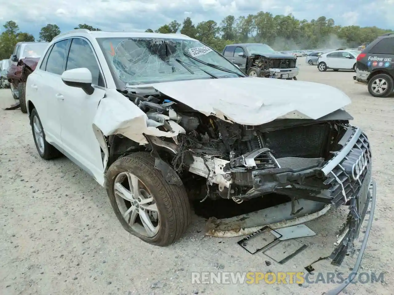
[[[349,123],[344,92],[247,77],[180,34],[77,30],[48,51],[55,46],[72,66],[48,81],[41,60],[27,82],[37,151],[43,159],[64,153],[92,175],[128,232],[169,245],[191,222],[191,198],[264,202],[275,193],[313,204],[290,208],[288,220],[346,206],[331,258],[341,264],[355,252],[376,194],[370,143]],[[30,87],[49,84],[61,98]]]

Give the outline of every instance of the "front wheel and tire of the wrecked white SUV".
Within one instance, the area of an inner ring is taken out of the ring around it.
[[[184,186],[168,184],[147,152],[119,158],[108,169],[106,190],[123,228],[144,242],[167,246],[191,223]]]

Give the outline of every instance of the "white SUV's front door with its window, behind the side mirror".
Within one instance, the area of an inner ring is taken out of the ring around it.
[[[106,84],[93,47],[82,37],[72,39],[67,58],[66,70],[75,68],[90,70],[94,92],[88,95],[80,88],[59,85],[56,96],[61,99],[61,141],[70,159],[100,183],[104,166],[92,124]]]

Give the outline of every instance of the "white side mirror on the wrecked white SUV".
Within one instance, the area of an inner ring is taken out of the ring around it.
[[[82,88],[88,95],[95,91],[92,86],[92,73],[87,68],[74,68],[64,71],[61,74],[61,79],[65,85]]]

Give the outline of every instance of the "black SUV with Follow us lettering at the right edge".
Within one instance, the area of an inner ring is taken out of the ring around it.
[[[368,44],[357,56],[356,76],[367,84],[375,97],[387,97],[394,90],[394,33],[387,33]]]

